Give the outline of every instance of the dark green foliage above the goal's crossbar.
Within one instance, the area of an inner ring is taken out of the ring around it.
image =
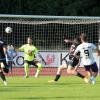
[[[100,0],[0,0],[0,13],[100,16]]]

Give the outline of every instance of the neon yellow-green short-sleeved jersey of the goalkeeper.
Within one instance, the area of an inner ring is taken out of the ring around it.
[[[20,51],[24,52],[24,60],[33,61],[35,54],[38,52],[38,49],[34,45],[25,44],[19,48]],[[32,51],[31,55],[29,52]]]

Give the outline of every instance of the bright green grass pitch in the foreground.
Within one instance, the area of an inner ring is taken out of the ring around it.
[[[8,86],[0,80],[0,100],[100,100],[100,77],[95,85],[85,84],[77,77],[7,77]]]

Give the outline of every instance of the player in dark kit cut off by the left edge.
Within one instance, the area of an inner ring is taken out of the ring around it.
[[[8,73],[9,72],[9,66],[6,63],[6,47],[3,41],[0,41],[0,77],[4,82],[4,85],[7,85],[6,78],[3,72]],[[5,66],[4,68],[1,68],[1,63]]]

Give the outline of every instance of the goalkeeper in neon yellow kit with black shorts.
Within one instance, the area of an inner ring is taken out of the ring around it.
[[[25,77],[28,78],[29,76],[29,65],[34,65],[37,68],[35,77],[38,77],[39,72],[42,68],[42,64],[35,59],[35,55],[39,54],[38,49],[32,44],[32,38],[27,38],[27,44],[22,45],[19,48],[19,51],[24,52],[24,71],[25,71]],[[42,56],[41,56],[42,57]]]

